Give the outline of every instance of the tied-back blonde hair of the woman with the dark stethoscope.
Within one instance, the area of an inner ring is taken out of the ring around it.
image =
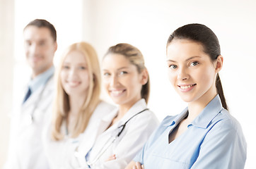
[[[144,64],[144,57],[141,54],[141,51],[137,49],[135,46],[132,46],[131,44],[116,44],[115,46],[111,46],[108,50],[105,56],[107,54],[121,54],[125,58],[127,58],[130,63],[136,66],[138,73],[141,73],[142,70],[146,69],[146,66]],[[149,93],[150,93],[150,82],[148,79],[148,82],[146,84],[142,85],[141,88],[141,98],[145,99],[146,103],[149,101]]]

